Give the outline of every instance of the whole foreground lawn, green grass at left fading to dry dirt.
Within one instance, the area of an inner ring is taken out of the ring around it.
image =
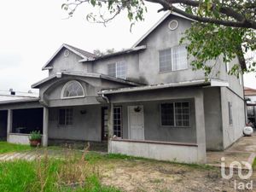
[[[218,167],[54,149],[49,148],[63,158],[50,159],[45,154],[31,162],[0,162],[0,191],[235,192],[235,180],[243,182],[237,172],[230,180],[223,179]]]

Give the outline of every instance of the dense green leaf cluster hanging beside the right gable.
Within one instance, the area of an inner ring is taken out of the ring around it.
[[[247,53],[254,51],[255,44],[246,43],[246,37],[255,37],[253,29],[218,26],[215,24],[194,23],[189,30],[184,32],[180,43],[189,42],[187,49],[194,69],[203,69],[206,76],[212,72],[216,61],[230,62]],[[214,64],[207,64],[212,61]],[[241,68],[241,63],[236,61],[230,69],[231,75],[238,77],[239,73],[255,71],[253,58],[247,59],[247,68]]]

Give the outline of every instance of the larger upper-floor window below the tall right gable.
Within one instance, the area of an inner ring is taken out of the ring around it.
[[[179,45],[159,51],[160,72],[177,71],[188,68],[186,46]]]

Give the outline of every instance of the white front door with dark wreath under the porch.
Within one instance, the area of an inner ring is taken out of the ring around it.
[[[144,110],[143,105],[128,106],[129,138],[144,140]]]

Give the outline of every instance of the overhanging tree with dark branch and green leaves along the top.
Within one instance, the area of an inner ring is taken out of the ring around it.
[[[158,3],[160,11],[170,10],[179,15],[195,20],[192,27],[184,32],[183,41],[189,41],[189,55],[194,60],[195,69],[212,72],[207,61],[222,59],[238,63],[232,67],[230,74],[255,71],[255,58],[245,59],[247,52],[256,49],[256,1],[255,0],[67,0],[63,9],[72,16],[81,4],[89,3],[98,9],[108,9],[108,15],[89,13],[87,20],[103,23],[113,20],[121,11],[127,12],[131,26],[144,20],[147,12],[145,2]]]

